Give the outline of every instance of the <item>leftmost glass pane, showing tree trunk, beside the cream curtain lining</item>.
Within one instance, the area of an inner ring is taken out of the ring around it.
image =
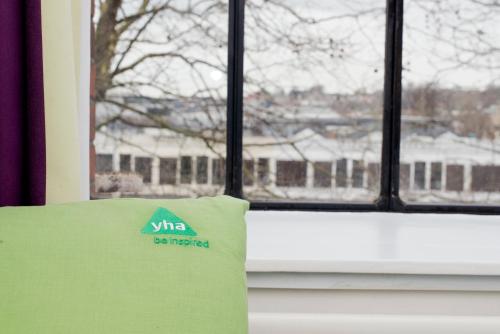
[[[222,193],[209,179],[226,152],[228,1],[95,8],[96,195]]]

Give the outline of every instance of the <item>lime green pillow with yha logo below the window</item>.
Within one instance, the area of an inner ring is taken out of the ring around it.
[[[0,209],[0,333],[247,333],[248,202]]]

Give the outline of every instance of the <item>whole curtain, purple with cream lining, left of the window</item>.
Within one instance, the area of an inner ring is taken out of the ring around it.
[[[0,206],[89,198],[90,0],[0,0]]]

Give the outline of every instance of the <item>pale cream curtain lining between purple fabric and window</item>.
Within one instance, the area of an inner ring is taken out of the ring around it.
[[[89,178],[88,168],[82,167],[88,156],[81,154],[88,132],[81,135],[79,123],[89,112],[80,110],[80,100],[89,96],[79,96],[79,61],[90,61],[90,48],[85,57],[79,54],[82,20],[76,15],[83,12],[83,3],[90,5],[87,0],[42,1],[47,203],[79,201],[88,194],[88,182],[82,182]],[[86,115],[80,117],[80,112]]]

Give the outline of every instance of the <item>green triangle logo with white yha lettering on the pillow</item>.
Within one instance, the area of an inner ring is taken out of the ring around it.
[[[158,208],[142,228],[145,234],[175,234],[195,237],[196,232],[182,218],[164,208]]]

